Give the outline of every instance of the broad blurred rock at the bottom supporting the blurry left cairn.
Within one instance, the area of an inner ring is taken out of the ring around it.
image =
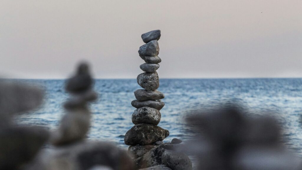
[[[127,152],[106,142],[79,142],[44,150],[26,170],[88,170],[97,166],[133,170]]]

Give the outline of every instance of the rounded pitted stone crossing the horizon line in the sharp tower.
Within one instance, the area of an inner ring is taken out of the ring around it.
[[[157,72],[144,72],[137,76],[137,84],[146,90],[156,90],[159,87]]]

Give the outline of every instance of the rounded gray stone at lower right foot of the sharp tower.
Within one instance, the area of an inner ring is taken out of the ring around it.
[[[192,170],[191,160],[182,152],[165,150],[162,154],[162,162],[173,170]]]

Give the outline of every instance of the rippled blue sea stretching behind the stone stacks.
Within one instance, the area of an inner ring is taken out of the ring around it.
[[[42,85],[47,92],[43,106],[17,118],[20,124],[56,129],[68,98],[64,80],[18,80]],[[95,90],[100,98],[92,104],[93,122],[89,140],[105,140],[126,148],[124,135],[133,124],[133,91],[136,79],[98,79]],[[269,112],[284,127],[284,141],[302,156],[302,79],[160,79],[158,89],[165,94],[159,126],[170,131],[164,141],[194,136],[185,124],[185,115],[223,101],[242,104],[255,114]]]

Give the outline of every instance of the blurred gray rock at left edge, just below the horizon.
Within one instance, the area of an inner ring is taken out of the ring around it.
[[[43,97],[41,88],[0,80],[0,115],[31,111],[42,104]]]

